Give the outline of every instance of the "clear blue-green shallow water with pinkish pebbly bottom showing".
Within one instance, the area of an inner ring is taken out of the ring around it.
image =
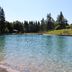
[[[21,72],[72,72],[72,37],[0,36],[0,62]]]

